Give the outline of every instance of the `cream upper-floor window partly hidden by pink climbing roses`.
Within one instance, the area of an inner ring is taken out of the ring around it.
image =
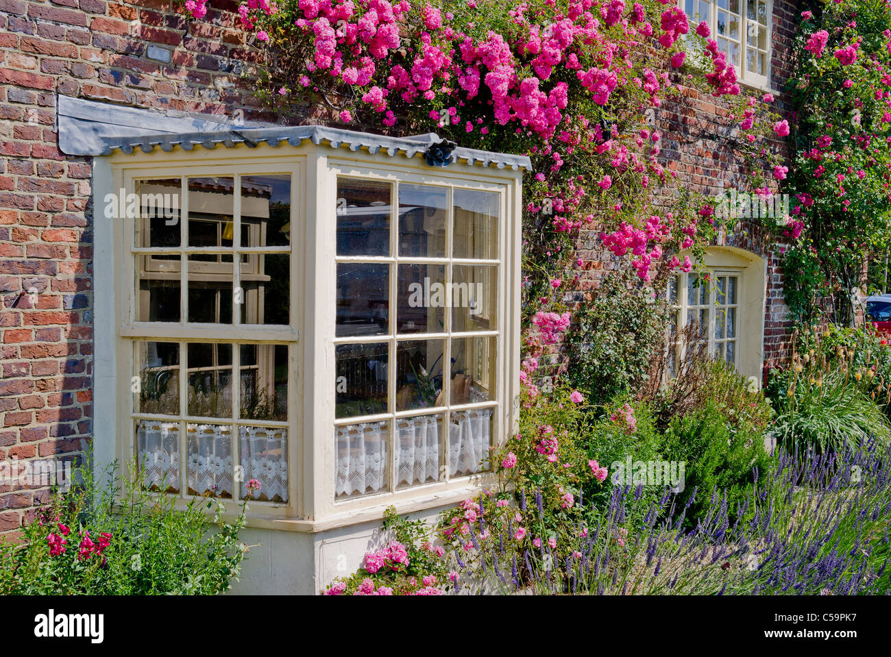
[[[740,82],[770,86],[772,0],[681,0],[694,25],[705,21]]]

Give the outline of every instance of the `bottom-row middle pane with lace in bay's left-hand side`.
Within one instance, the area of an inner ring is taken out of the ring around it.
[[[190,424],[186,477],[190,495],[232,497],[232,427]]]

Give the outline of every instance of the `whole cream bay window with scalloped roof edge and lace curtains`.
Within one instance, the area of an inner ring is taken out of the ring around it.
[[[252,518],[305,531],[491,477],[517,419],[528,160],[454,148],[428,166],[434,138],[110,140],[100,451],[160,495],[250,498]]]

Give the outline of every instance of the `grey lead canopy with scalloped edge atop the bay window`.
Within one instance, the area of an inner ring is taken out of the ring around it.
[[[435,133],[390,137],[327,126],[257,127],[257,124],[253,124],[242,127],[193,117],[169,118],[149,110],[80,101],[68,96],[60,96],[59,101],[59,139],[63,152],[69,155],[110,155],[115,151],[129,155],[136,149],[150,153],[156,147],[167,152],[176,147],[192,150],[196,146],[212,150],[218,144],[225,148],[234,148],[240,144],[256,148],[266,143],[276,148],[282,143],[299,146],[308,140],[316,146],[326,144],[332,149],[347,146],[349,150],[366,149],[372,155],[383,153],[391,158],[403,153],[405,158],[411,159],[418,155],[424,156],[431,147],[444,141]],[[160,119],[164,121],[165,127],[174,127],[176,132],[162,128],[159,125]],[[471,166],[480,164],[499,169],[508,167],[514,171],[520,168],[532,170],[532,163],[525,155],[460,146],[455,147],[448,155],[448,162],[457,161]]]

